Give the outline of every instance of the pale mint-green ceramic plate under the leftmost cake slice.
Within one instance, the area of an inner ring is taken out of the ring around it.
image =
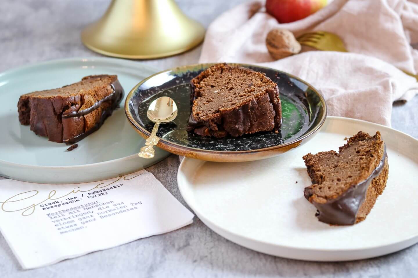
[[[116,74],[125,96],[143,78],[157,72],[138,62],[113,58],[72,58],[10,70],[0,74],[0,175],[35,183],[82,183],[133,173],[165,158],[139,158],[145,141],[126,120],[121,108],[102,127],[78,142],[71,152],[64,143],[37,136],[20,125],[17,103],[20,95],[35,90],[58,88],[86,75]]]

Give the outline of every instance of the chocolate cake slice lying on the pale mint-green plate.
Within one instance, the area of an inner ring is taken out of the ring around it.
[[[117,75],[90,75],[62,88],[21,95],[19,121],[37,135],[74,144],[98,130],[123,97]]]

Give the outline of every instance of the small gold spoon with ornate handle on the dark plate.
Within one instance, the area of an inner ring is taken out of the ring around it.
[[[138,156],[142,158],[153,158],[155,154],[154,146],[160,140],[156,135],[158,127],[160,123],[169,123],[177,117],[177,105],[172,98],[157,98],[148,107],[147,116],[155,125],[150,137],[145,140],[145,146],[141,148]]]

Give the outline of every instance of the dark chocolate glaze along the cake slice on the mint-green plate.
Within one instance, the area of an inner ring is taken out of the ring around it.
[[[62,115],[62,118],[71,118],[71,117],[80,117],[83,115],[87,115],[88,113],[91,113],[92,111],[96,110],[97,108],[100,107],[100,105],[102,105],[103,102],[105,101],[112,101],[112,105],[107,108],[106,110],[104,110],[102,112],[102,115],[100,116],[100,120],[89,130],[73,137],[70,138],[68,140],[64,140],[64,143],[66,143],[67,145],[72,145],[76,142],[78,142],[79,140],[82,140],[83,138],[85,138],[87,135],[92,134],[94,131],[98,130],[102,124],[104,123],[104,120],[106,120],[110,115],[112,115],[113,110],[115,110],[117,108],[117,106],[119,105],[120,100],[122,100],[123,95],[124,95],[124,91],[122,86],[120,85],[119,81],[116,80],[114,83],[110,84],[113,88],[113,93],[111,93],[110,95],[108,95],[107,97],[97,101],[96,103],[94,103],[94,105],[92,105],[91,107],[81,110],[81,111],[74,111],[71,112],[69,114],[66,115]]]

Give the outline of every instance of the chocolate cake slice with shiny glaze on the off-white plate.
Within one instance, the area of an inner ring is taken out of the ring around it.
[[[353,225],[366,219],[386,186],[389,165],[385,143],[359,131],[334,150],[303,156],[312,185],[305,198],[317,208],[319,221]]]

